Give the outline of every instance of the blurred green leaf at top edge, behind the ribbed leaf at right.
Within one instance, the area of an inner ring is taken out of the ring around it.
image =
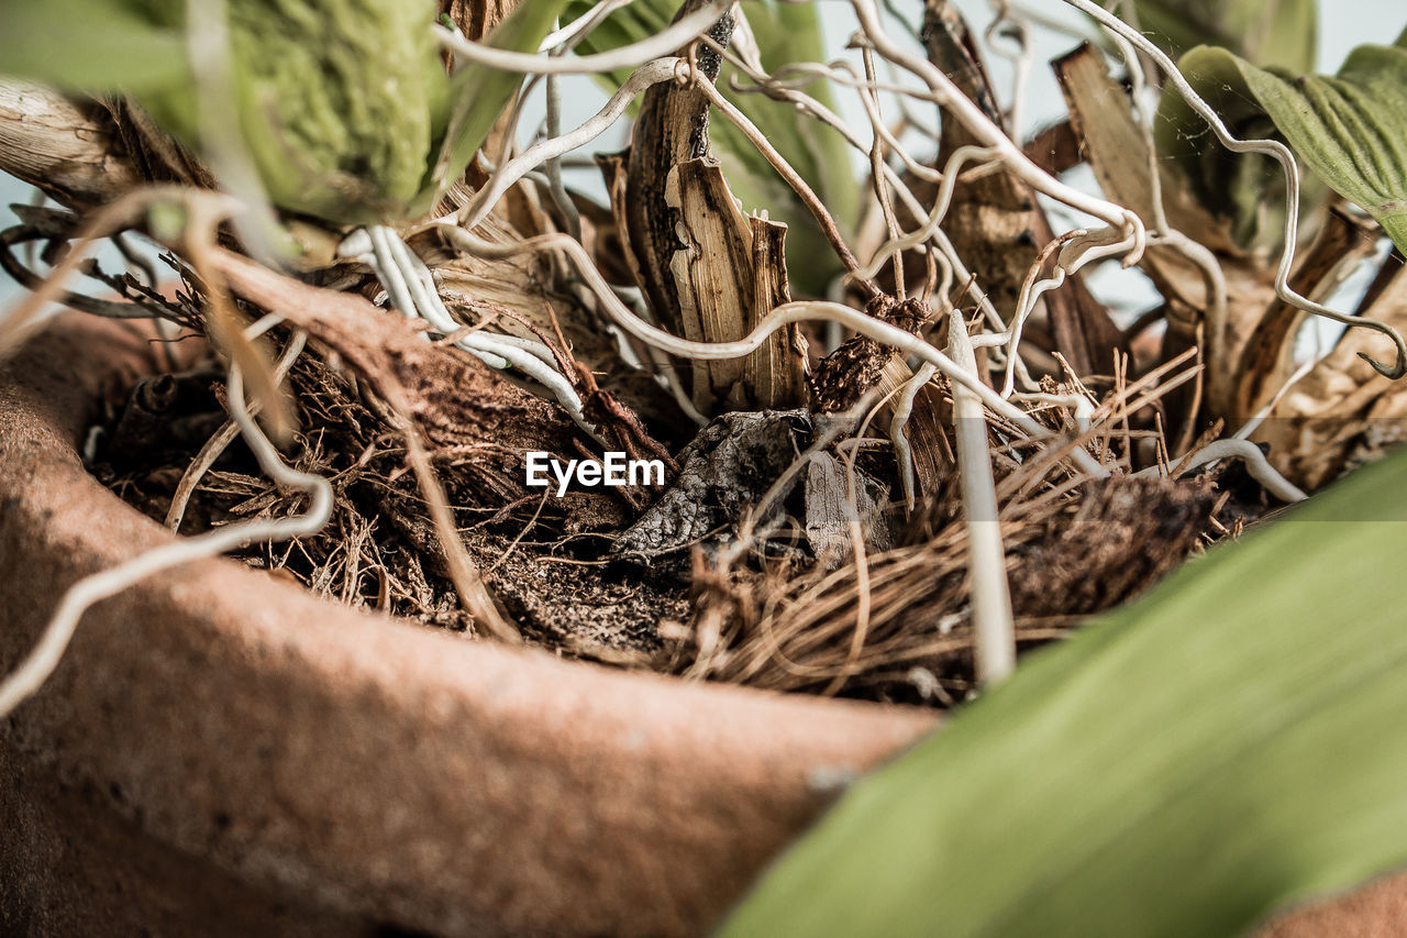
[[[1262,68],[1314,68],[1314,0],[1135,0],[1138,27],[1172,58],[1218,45]]]

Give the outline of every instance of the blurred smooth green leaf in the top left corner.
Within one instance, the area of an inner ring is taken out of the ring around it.
[[[189,83],[180,30],[121,0],[0,0],[0,75],[68,92]]]

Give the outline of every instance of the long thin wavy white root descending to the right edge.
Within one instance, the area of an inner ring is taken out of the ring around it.
[[[858,3],[860,0],[855,1]],[[1221,117],[1216,113],[1216,110],[1213,110],[1213,107],[1196,93],[1182,72],[1178,70],[1178,65],[1142,34],[1090,0],[1065,0],[1065,3],[1071,4],[1076,10],[1088,13],[1107,31],[1121,35],[1140,52],[1157,62],[1158,68],[1162,69],[1172,86],[1178,89],[1178,93],[1182,94],[1185,101],[1188,101],[1188,106],[1192,107],[1192,110],[1195,110],[1209,127],[1211,127],[1211,131],[1217,135],[1217,139],[1221,141],[1223,146],[1237,154],[1262,154],[1273,158],[1280,165],[1280,169],[1285,172],[1286,186],[1285,249],[1280,252],[1280,263],[1275,270],[1276,296],[1290,306],[1304,310],[1306,313],[1323,315],[1351,328],[1361,327],[1382,332],[1393,341],[1393,345],[1397,349],[1396,363],[1393,366],[1387,366],[1359,352],[1361,358],[1363,358],[1363,361],[1386,377],[1399,379],[1407,375],[1407,342],[1403,341],[1403,337],[1397,330],[1379,320],[1370,320],[1362,315],[1346,315],[1337,310],[1331,310],[1327,306],[1314,303],[1313,300],[1300,296],[1290,287],[1289,279],[1290,270],[1294,265],[1294,251],[1300,224],[1300,177],[1294,154],[1290,152],[1289,146],[1273,139],[1240,139],[1230,130],[1227,130],[1227,125],[1221,121]]]

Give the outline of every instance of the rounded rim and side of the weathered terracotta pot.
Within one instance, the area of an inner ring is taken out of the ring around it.
[[[61,320],[0,377],[0,668],[172,535],[84,472],[146,334]],[[4,934],[698,934],[933,725],[467,641],[232,561],[90,610],[0,723]]]

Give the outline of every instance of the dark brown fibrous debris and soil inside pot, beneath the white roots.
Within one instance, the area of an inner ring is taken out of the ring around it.
[[[106,420],[98,477],[165,517],[191,452],[224,420],[221,377],[207,361],[134,387]],[[241,559],[333,601],[473,631],[404,444],[369,401],[374,392],[310,354],[288,382],[300,425],[293,465],[332,480],[336,508],[321,534]],[[1045,420],[1054,430],[1062,417]],[[955,487],[909,523],[881,482],[893,477],[884,441],[815,442],[806,411],[726,414],[678,454],[678,475],[643,511],[612,494],[525,494],[502,445],[442,445],[433,462],[466,549],[535,645],[777,690],[962,700],[974,690],[972,635]],[[1023,648],[1138,594],[1220,537],[1218,501],[1245,487],[1234,465],[1183,480],[1069,479],[1050,455],[998,466]],[[850,479],[858,510],[846,507]],[[270,487],[236,442],[197,484],[183,531],[291,513],[301,499]],[[1263,507],[1238,494],[1237,518]],[[740,551],[744,517],[760,532]],[[862,624],[861,589],[871,597]]]

